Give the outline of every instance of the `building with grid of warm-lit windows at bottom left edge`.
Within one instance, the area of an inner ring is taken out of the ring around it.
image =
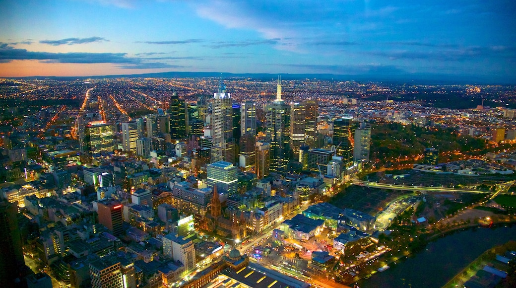
[[[134,262],[109,255],[90,263],[92,288],[136,288]]]

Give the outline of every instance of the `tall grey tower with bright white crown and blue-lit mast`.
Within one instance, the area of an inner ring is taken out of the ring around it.
[[[220,84],[214,93],[212,104],[213,147],[211,162],[235,162],[235,139],[233,138],[233,103],[230,93]]]

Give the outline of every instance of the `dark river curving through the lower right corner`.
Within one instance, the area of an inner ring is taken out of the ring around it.
[[[486,250],[516,240],[516,225],[470,228],[430,242],[420,253],[358,282],[360,288],[442,287]]]

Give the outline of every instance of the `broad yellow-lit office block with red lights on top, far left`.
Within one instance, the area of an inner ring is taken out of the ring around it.
[[[89,153],[110,152],[114,149],[114,131],[111,124],[93,121],[84,127],[80,151]]]

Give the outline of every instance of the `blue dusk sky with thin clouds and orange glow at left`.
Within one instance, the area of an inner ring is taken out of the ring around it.
[[[330,73],[516,84],[516,1],[0,0],[0,77]]]

